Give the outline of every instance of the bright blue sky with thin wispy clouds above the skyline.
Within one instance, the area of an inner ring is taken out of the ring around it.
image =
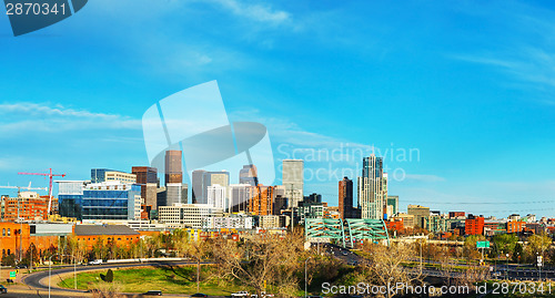
[[[231,121],[266,125],[276,165],[293,150],[413,148],[385,156],[402,208],[553,217],[553,20],[548,1],[95,0],[14,38],[0,16],[0,184],[144,165],[144,111],[218,80]],[[334,205],[329,177],[305,192]]]

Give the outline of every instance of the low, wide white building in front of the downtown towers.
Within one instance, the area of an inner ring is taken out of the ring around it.
[[[222,216],[223,209],[210,204],[173,204],[173,206],[160,206],[158,209],[160,222],[192,228],[202,228],[203,218]]]

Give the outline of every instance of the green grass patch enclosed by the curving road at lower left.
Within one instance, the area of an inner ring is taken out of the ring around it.
[[[78,274],[78,288],[95,288],[100,279],[100,274],[107,270]],[[209,267],[202,267],[201,280],[210,275]],[[113,280],[122,286],[123,292],[145,292],[148,290],[161,290],[164,294],[194,294],[196,292],[196,267],[148,267],[133,269],[113,270]],[[73,277],[65,278],[58,282],[59,287],[73,288]],[[222,296],[241,290],[234,286],[218,286],[215,282],[201,281],[200,292],[206,295]]]

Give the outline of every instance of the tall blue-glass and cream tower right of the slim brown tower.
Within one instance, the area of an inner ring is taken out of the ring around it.
[[[357,179],[361,217],[383,219],[383,158],[372,154],[362,161],[362,176]]]

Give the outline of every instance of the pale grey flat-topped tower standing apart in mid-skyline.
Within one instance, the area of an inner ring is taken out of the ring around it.
[[[304,162],[302,160],[283,160],[282,184],[289,197],[289,206],[296,208],[303,201]]]

